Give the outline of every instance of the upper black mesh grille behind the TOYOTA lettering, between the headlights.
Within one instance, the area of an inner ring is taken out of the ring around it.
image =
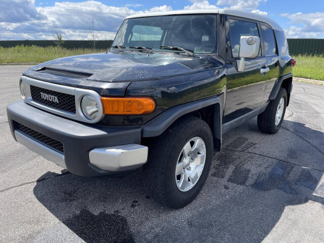
[[[31,93],[32,100],[36,101],[37,103],[41,103],[46,106],[50,106],[59,110],[64,110],[75,114],[74,95],[68,95],[68,94],[64,94],[52,90],[47,90],[32,85],[30,86],[30,93]],[[55,102],[54,100],[50,101],[50,100],[43,99],[41,93],[56,96],[58,103]]]

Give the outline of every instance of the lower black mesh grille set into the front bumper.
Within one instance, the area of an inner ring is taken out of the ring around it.
[[[23,134],[37,140],[38,142],[41,142],[61,153],[64,153],[64,150],[63,150],[63,144],[60,142],[60,141],[57,141],[53,138],[50,138],[44,134],[41,134],[41,133],[38,133],[34,130],[32,130],[31,128],[28,128],[20,123],[17,123],[16,122],[16,129],[20,132],[22,132]]]

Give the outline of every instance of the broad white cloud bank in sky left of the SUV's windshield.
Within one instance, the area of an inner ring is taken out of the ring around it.
[[[144,11],[129,7],[140,5],[114,7],[86,1],[36,8],[34,0],[0,0],[0,8],[5,10],[0,12],[0,39],[53,39],[56,30],[64,39],[89,39],[92,19],[97,39],[113,39],[128,15],[172,10],[167,5]]]

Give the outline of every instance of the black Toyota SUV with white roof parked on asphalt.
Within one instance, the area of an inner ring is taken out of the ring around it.
[[[181,208],[208,177],[222,134],[258,116],[281,126],[292,58],[271,19],[236,10],[130,16],[107,53],[45,62],[20,78],[12,135],[82,176],[143,166],[152,196]]]

